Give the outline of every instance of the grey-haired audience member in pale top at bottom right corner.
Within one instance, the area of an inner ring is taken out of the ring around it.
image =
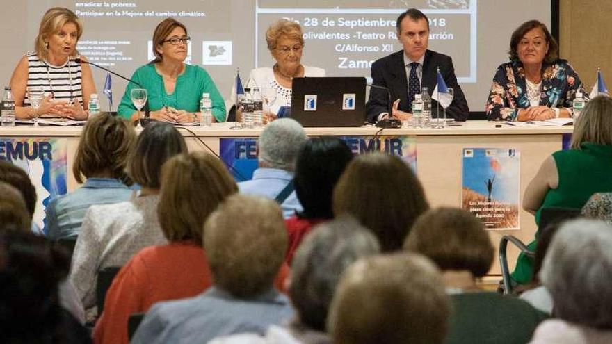
[[[612,343],[612,226],[565,222],[552,240],[540,279],[556,319],[542,322],[531,343]]]

